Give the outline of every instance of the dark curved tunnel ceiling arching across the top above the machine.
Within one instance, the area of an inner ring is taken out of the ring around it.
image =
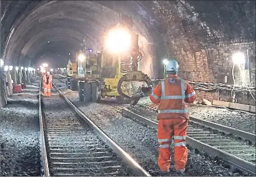
[[[230,39],[241,33],[255,39],[254,1],[1,1],[1,58],[14,65],[36,64],[43,55],[58,61],[58,55],[74,55],[83,39],[99,50],[103,29],[118,23],[120,14],[132,17],[153,46],[147,49],[152,58],[172,52],[166,46],[170,26],[181,33],[177,24],[167,23],[170,17],[183,19],[180,26],[206,22]]]

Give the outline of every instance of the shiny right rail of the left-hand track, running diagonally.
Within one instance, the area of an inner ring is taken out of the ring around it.
[[[146,170],[143,169],[128,153],[126,153],[121,147],[118,146],[108,135],[105,134],[93,121],[91,121],[80,109],[78,109],[64,94],[56,87],[54,83],[53,86],[58,90],[59,94],[64,98],[68,105],[91,127],[94,129],[97,135],[102,138],[105,143],[112,148],[112,150],[118,154],[119,157],[122,157],[122,160],[131,167],[134,173],[138,176],[151,176]]]

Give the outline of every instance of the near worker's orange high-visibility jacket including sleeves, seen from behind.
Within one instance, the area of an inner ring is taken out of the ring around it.
[[[193,88],[177,75],[168,77],[157,84],[150,100],[159,103],[157,119],[189,119],[187,103],[192,103],[197,95]]]

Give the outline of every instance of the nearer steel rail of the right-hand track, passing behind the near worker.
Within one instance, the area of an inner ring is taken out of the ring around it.
[[[131,112],[128,109],[122,109],[122,112],[128,116],[131,116],[131,118],[135,118],[138,121],[143,122],[143,124],[149,125],[150,127],[153,127],[155,129],[157,129],[157,127],[158,127],[158,124],[156,122],[150,121],[149,119],[144,118],[143,116],[138,115],[137,113]],[[226,160],[230,165],[233,165],[233,166],[237,167],[238,169],[255,176],[255,165],[251,162],[247,162],[244,159],[236,157],[230,153],[220,150],[219,148],[210,146],[201,141],[195,140],[194,138],[189,137],[189,136],[186,137],[186,142],[190,146],[197,148],[197,150],[205,151],[206,153],[211,154],[213,156],[219,156],[222,159]]]

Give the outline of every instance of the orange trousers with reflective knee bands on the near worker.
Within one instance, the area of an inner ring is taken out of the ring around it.
[[[172,151],[170,145],[174,140],[175,169],[185,168],[188,159],[188,149],[185,137],[187,135],[188,121],[185,119],[160,119],[158,122],[157,138],[159,146],[158,165],[160,170],[169,171]]]

